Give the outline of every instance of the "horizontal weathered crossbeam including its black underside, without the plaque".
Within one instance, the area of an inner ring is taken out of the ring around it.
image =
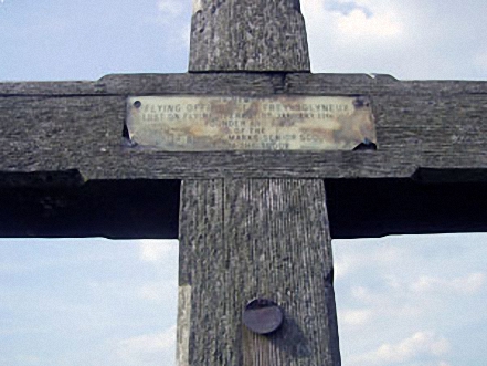
[[[378,150],[128,146],[126,98],[176,94],[366,95]],[[487,207],[478,197],[487,188],[486,115],[487,82],[201,73],[1,83],[0,236],[177,238],[179,181],[215,178],[325,179],[334,238],[485,231]],[[139,206],[151,207],[153,220],[137,217]]]

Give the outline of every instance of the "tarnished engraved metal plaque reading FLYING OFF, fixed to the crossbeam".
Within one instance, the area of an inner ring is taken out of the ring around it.
[[[134,145],[168,151],[351,150],[375,140],[370,101],[347,96],[140,96]]]

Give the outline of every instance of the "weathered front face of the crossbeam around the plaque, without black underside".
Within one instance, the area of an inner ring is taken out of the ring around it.
[[[91,180],[407,178],[434,169],[436,179],[468,170],[476,171],[470,180],[486,180],[487,82],[210,73],[109,75],[88,84],[0,83],[0,171],[75,169]],[[199,154],[123,145],[126,96],[152,94],[363,94],[372,100],[379,150]]]

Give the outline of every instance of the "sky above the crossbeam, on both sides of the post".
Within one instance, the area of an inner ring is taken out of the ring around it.
[[[301,0],[314,72],[485,80],[480,0]],[[186,72],[191,0],[3,0],[0,80]]]

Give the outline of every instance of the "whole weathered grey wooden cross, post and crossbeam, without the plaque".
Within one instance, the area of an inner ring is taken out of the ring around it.
[[[189,71],[0,84],[0,234],[179,237],[180,366],[340,365],[331,238],[487,229],[486,82],[311,74],[298,0],[195,1]],[[208,95],[364,98],[377,144],[129,139],[141,98]]]

